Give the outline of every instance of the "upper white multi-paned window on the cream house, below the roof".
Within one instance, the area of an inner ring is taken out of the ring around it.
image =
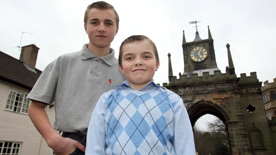
[[[30,100],[26,98],[27,95],[26,93],[9,89],[5,110],[28,114]]]

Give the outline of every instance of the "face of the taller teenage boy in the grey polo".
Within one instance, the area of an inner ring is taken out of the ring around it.
[[[109,46],[119,29],[113,9],[90,9],[84,29],[93,45],[102,48]]]

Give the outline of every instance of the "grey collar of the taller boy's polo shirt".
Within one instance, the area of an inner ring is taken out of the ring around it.
[[[83,48],[81,49],[81,59],[82,60],[86,60],[89,58],[94,58],[97,57],[95,54],[93,54],[88,48],[87,48],[88,44],[84,44]],[[106,56],[103,57],[99,57],[100,59],[102,59],[105,63],[107,63],[107,65],[112,66],[114,63],[114,59],[115,59],[115,50],[112,48],[109,48],[109,53]]]

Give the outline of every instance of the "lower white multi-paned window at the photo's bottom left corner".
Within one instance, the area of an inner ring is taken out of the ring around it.
[[[0,141],[0,155],[20,155],[21,143],[12,141]],[[9,151],[10,153],[7,153]]]

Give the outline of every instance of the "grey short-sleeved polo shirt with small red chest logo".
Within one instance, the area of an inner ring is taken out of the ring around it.
[[[115,51],[97,58],[84,44],[74,53],[63,54],[51,62],[27,96],[51,105],[55,103],[54,129],[85,133],[99,97],[126,79]]]

